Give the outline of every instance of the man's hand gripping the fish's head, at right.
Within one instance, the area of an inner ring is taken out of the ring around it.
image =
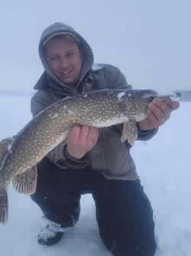
[[[153,100],[147,106],[147,119],[139,122],[141,130],[158,128],[170,118],[170,113],[176,110],[180,103],[171,99]]]

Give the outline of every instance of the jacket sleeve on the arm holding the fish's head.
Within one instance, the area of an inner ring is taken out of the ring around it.
[[[110,68],[109,68],[110,67]],[[107,66],[105,68],[105,78],[109,80],[109,87],[112,89],[126,89],[132,90],[132,86],[128,84],[125,75],[121,73],[118,67],[113,67],[108,65],[108,69],[111,69],[107,72]],[[156,133],[158,129],[151,130],[141,130],[139,124],[137,123],[138,128],[138,140],[148,140],[151,139]]]

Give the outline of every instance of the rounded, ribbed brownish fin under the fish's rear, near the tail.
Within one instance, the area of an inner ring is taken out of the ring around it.
[[[19,193],[34,194],[37,189],[37,166],[15,176],[12,185]]]

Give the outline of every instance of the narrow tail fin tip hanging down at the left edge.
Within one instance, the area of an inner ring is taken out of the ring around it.
[[[0,223],[8,222],[8,194],[5,189],[0,190]]]

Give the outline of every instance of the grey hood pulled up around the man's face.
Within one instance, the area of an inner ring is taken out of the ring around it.
[[[62,34],[62,33],[68,33],[73,34],[75,38],[79,39],[79,43],[83,47],[83,67],[80,73],[79,82],[75,86],[72,85],[66,85],[61,80],[59,80],[52,71],[50,71],[50,68],[47,64],[47,60],[44,57],[43,53],[43,44],[44,41],[47,40],[47,38],[50,38],[53,34]],[[48,84],[50,87],[53,87],[54,90],[57,90],[59,92],[66,92],[69,94],[76,94],[77,93],[77,87],[80,84],[81,80],[83,80],[83,77],[86,76],[86,74],[91,70],[92,64],[93,64],[93,53],[92,49],[90,48],[89,44],[86,42],[86,40],[78,34],[76,31],[74,31],[73,28],[71,28],[68,25],[65,25],[63,23],[54,23],[53,25],[50,25],[48,28],[46,28],[41,37],[40,37],[40,43],[38,46],[38,51],[40,55],[40,60],[42,61],[42,64],[44,66],[44,74],[40,77],[40,79],[37,81],[37,84],[34,86],[34,89],[42,90],[46,84]]]

